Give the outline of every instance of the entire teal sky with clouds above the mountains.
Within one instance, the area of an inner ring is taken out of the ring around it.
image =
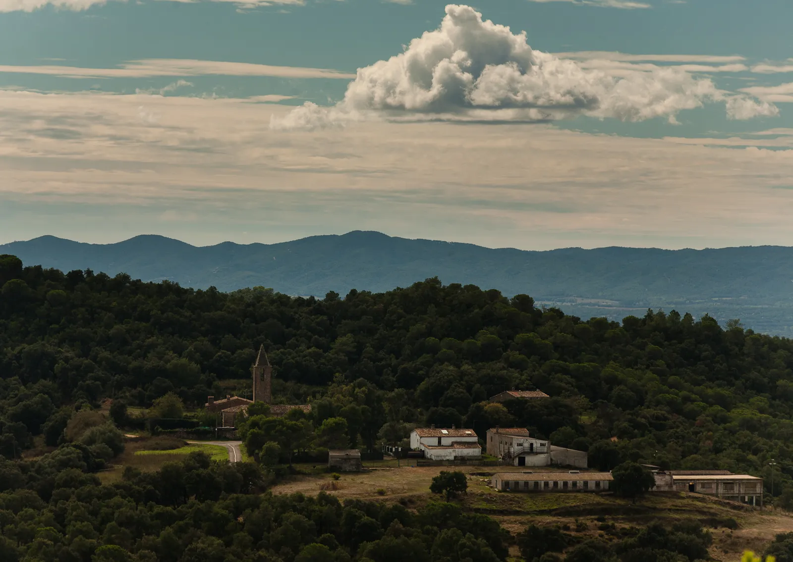
[[[0,0],[0,243],[793,245],[790,0]]]

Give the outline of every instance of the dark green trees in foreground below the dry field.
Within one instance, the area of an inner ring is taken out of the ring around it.
[[[603,538],[530,525],[513,537],[454,503],[408,509],[340,503],[324,492],[258,493],[257,465],[209,461],[203,453],[157,472],[128,467],[109,486],[90,474],[92,462],[79,445],[61,445],[36,461],[0,460],[0,560],[499,562],[515,544],[530,562],[560,562],[562,551],[569,562],[693,562],[707,558],[712,540],[691,520],[623,530],[603,523]],[[783,555],[790,545],[780,541],[775,549]]]

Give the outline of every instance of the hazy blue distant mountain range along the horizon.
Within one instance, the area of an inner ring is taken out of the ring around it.
[[[144,281],[222,291],[262,285],[289,295],[386,291],[427,277],[479,285],[588,318],[622,319],[675,308],[746,327],[793,335],[793,248],[657,250],[607,247],[526,251],[413,240],[380,232],[311,236],[278,244],[194,247],[156,235],[114,244],[54,236],[0,245],[25,265],[125,272]]]

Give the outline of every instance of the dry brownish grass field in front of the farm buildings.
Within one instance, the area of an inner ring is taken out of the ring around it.
[[[429,486],[433,476],[441,470],[459,470],[468,476],[469,489],[458,501],[470,510],[496,518],[511,533],[519,533],[531,523],[560,525],[569,533],[608,537],[615,530],[630,526],[644,526],[649,522],[672,523],[684,518],[696,518],[712,527],[714,560],[740,560],[746,549],[762,551],[776,533],[793,531],[793,517],[784,512],[754,510],[737,503],[726,502],[697,494],[649,494],[637,503],[611,494],[575,492],[510,493],[488,487],[493,467],[402,467],[390,463],[365,463],[368,470],[342,474],[335,486],[327,473],[292,476],[273,488],[276,494],[301,492],[316,495],[320,489],[339,499],[380,499],[419,507],[431,500]],[[306,472],[312,466],[305,468]],[[499,467],[508,472],[511,467]],[[519,471],[518,467],[511,468]],[[520,468],[523,470],[523,468]],[[335,487],[336,489],[332,489]],[[330,488],[330,489],[329,489]],[[725,527],[730,519],[737,529]]]

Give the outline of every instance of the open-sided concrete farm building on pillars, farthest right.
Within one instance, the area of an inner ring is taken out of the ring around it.
[[[763,506],[763,479],[729,471],[658,471],[653,491],[691,491]]]

